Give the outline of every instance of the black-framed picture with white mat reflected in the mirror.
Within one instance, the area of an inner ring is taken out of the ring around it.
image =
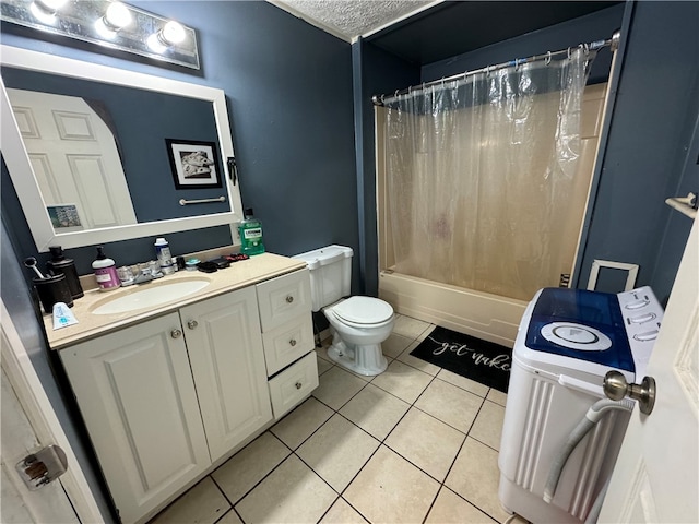
[[[222,188],[216,144],[165,139],[177,189]]]

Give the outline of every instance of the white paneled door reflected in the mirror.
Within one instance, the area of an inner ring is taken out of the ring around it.
[[[56,233],[135,224],[109,127],[74,96],[8,90]]]

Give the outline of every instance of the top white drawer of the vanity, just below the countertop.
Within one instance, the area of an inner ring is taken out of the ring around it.
[[[311,311],[308,270],[277,276],[257,285],[262,331],[277,327]]]

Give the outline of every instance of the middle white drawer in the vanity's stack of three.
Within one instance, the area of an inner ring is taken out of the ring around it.
[[[262,335],[266,374],[273,376],[310,352],[313,346],[313,323],[308,313]]]

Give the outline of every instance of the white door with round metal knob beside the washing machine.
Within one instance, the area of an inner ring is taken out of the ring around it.
[[[699,522],[698,236],[695,219],[648,365],[655,406],[631,415],[599,522]]]

